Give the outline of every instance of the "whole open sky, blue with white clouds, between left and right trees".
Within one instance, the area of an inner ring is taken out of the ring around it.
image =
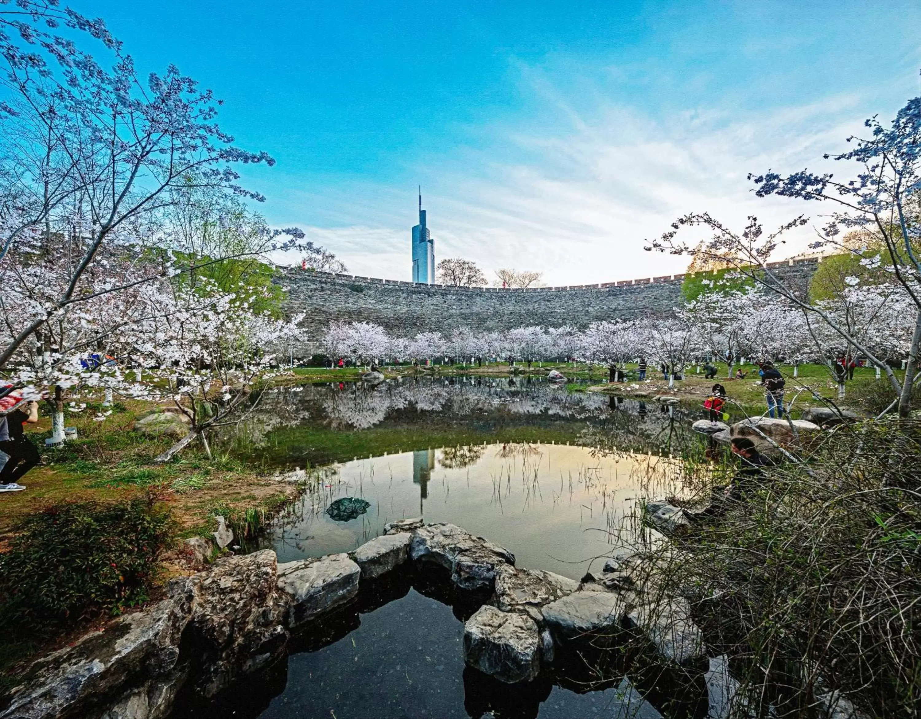
[[[393,279],[419,184],[436,259],[548,284],[682,272],[643,239],[693,210],[821,212],[753,198],[746,173],[821,167],[919,93],[916,2],[73,5],[141,70],[225,100],[224,129],[277,160],[246,175],[271,224]]]

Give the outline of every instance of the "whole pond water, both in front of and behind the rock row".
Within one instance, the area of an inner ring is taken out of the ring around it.
[[[705,452],[689,432],[702,412],[583,389],[527,377],[278,389],[224,446],[304,483],[259,541],[279,562],[351,551],[387,522],[423,516],[495,541],[519,566],[578,579],[624,541],[657,540],[635,504],[681,495],[682,458]],[[328,511],[344,498],[363,502]],[[377,595],[299,638],[272,677],[174,716],[659,716],[623,676],[496,686],[464,667],[462,621],[475,607],[418,577]]]

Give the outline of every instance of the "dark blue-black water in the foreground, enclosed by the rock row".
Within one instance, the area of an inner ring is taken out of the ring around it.
[[[380,594],[380,597],[375,595]],[[211,702],[185,698],[172,719],[654,719],[660,714],[623,672],[582,685],[562,665],[508,685],[465,667],[463,621],[477,603],[444,582],[406,574],[292,639],[286,662]],[[564,676],[564,673],[566,676]],[[645,684],[644,691],[655,690]]]

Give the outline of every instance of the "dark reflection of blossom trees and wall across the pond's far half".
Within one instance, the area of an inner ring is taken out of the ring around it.
[[[377,387],[279,388],[263,392],[218,441],[241,458],[285,470],[484,441],[591,444],[599,433],[608,433],[602,441],[622,449],[678,454],[696,441],[689,436],[690,423],[703,416],[658,402],[573,391],[581,389],[577,384],[516,382],[422,377]],[[594,435],[581,437],[587,429]]]

